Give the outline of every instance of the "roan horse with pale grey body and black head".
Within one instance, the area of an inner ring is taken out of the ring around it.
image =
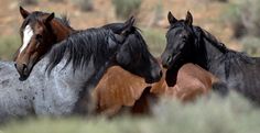
[[[28,114],[71,115],[77,112],[77,102],[83,93],[89,93],[110,65],[124,67],[150,84],[160,80],[161,67],[141,36],[133,34],[133,18],[122,23],[118,34],[101,27],[71,34],[53,46],[34,66],[33,75],[22,82],[10,79],[18,75],[11,67],[12,63],[1,63],[0,73],[8,73],[1,78],[1,120]],[[50,75],[45,74],[43,66]]]

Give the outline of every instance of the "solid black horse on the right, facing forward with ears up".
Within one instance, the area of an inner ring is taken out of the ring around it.
[[[189,12],[185,20],[176,20],[171,12],[166,48],[162,63],[171,68],[175,63],[194,63],[213,73],[247,98],[260,103],[260,59],[228,49],[210,33],[193,25]]]

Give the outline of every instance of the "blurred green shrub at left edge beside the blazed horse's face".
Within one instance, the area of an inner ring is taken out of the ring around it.
[[[1,36],[0,37],[0,59],[12,59],[20,43],[19,36]]]

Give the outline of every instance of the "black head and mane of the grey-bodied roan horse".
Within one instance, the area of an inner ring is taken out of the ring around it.
[[[149,84],[159,81],[162,75],[159,63],[148,51],[141,34],[132,25],[134,19],[131,18],[120,29],[116,29],[120,24],[111,24],[71,34],[51,51],[48,71],[65,56],[65,67],[72,63],[74,70],[93,65],[93,69],[87,70],[96,73],[94,77],[100,78],[106,68],[119,65],[143,77]],[[115,29],[111,30],[113,25]]]

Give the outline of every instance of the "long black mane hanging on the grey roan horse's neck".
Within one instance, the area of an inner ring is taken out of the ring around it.
[[[48,74],[64,56],[67,57],[64,67],[72,62],[74,70],[86,66],[90,57],[94,59],[94,65],[104,63],[110,57],[108,45],[106,45],[108,35],[112,35],[111,31],[105,29],[88,29],[71,34],[66,40],[53,46],[48,53],[50,62],[46,67]]]

